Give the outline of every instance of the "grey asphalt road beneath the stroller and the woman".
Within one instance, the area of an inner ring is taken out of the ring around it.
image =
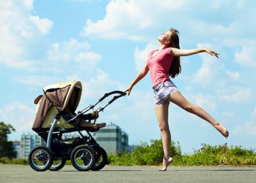
[[[256,167],[106,166],[101,171],[79,172],[66,165],[58,172],[36,172],[28,165],[0,164],[0,182],[256,182]]]

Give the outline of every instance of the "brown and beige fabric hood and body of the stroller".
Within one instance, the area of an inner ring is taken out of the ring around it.
[[[45,131],[51,127],[58,112],[74,115],[82,93],[82,84],[79,81],[60,82],[43,89],[43,96],[37,103],[33,131]],[[60,117],[56,127],[74,127],[67,124],[63,116]]]

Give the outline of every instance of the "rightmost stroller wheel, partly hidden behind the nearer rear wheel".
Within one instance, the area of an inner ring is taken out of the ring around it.
[[[104,148],[100,146],[93,146],[93,149],[96,152],[96,159],[95,159],[95,165],[91,167],[92,171],[99,171],[100,169],[103,169],[108,161],[108,155],[106,154],[106,151]]]

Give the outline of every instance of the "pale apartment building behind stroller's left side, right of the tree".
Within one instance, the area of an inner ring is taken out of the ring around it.
[[[45,141],[41,139],[38,135],[25,135],[23,134],[21,136],[20,141],[20,157],[17,158],[28,158],[28,155],[30,154],[30,151],[35,146],[45,146]]]

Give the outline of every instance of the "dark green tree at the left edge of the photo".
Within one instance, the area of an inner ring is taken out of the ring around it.
[[[12,125],[0,122],[0,158],[16,158],[14,146],[11,141],[8,141],[8,135],[11,134],[12,131],[15,131]]]

